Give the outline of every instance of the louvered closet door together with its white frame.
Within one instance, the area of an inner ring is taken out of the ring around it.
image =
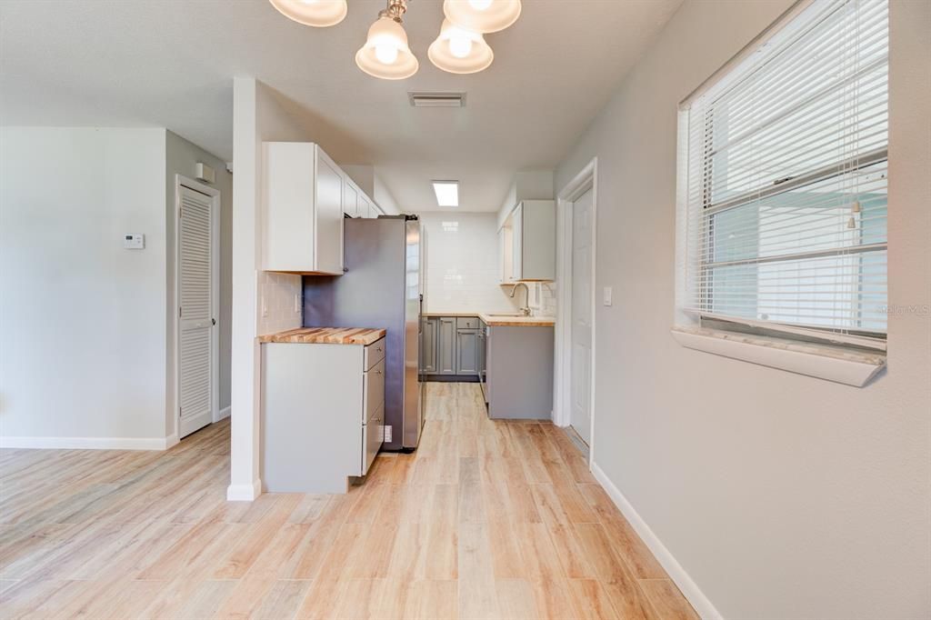
[[[178,438],[183,438],[209,425],[218,413],[220,192],[178,176],[175,200],[175,380]]]

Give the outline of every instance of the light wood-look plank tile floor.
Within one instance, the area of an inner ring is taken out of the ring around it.
[[[347,495],[226,502],[228,423],[0,452],[0,617],[695,617],[560,429],[427,387],[420,449]]]

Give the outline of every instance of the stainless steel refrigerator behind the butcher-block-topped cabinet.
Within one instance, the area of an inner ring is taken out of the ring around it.
[[[424,426],[420,222],[400,215],[344,224],[345,273],[304,276],[304,327],[387,330],[384,449],[413,450]]]

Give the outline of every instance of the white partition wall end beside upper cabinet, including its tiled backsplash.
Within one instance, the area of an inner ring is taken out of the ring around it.
[[[233,82],[233,365],[231,500],[251,500],[261,492],[259,478],[260,350],[256,336],[301,326],[271,308],[288,307],[301,293],[301,276],[270,277],[260,270],[262,255],[260,181],[262,142],[311,142],[299,119],[291,117],[275,94],[251,77]],[[264,307],[269,309],[263,317]],[[281,319],[281,320],[278,320]]]

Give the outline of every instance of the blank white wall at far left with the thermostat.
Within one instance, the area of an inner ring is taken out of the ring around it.
[[[158,447],[165,129],[0,131],[0,435]],[[145,249],[123,249],[128,233]]]

